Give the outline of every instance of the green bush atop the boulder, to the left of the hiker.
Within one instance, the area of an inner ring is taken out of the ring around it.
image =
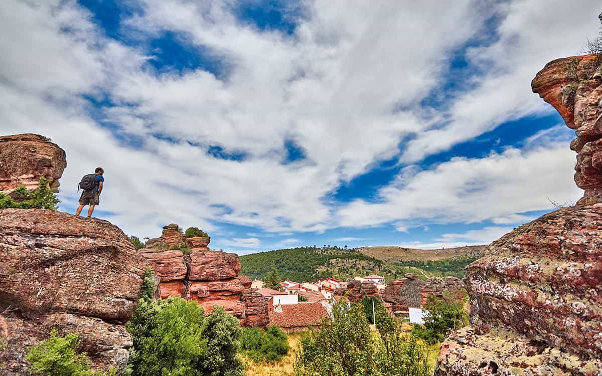
[[[58,203],[61,201],[56,194],[50,190],[51,180],[40,177],[38,187],[33,191],[28,191],[25,186],[19,186],[12,193],[18,197],[18,201],[7,194],[0,193],[0,209],[49,209],[57,210]]]

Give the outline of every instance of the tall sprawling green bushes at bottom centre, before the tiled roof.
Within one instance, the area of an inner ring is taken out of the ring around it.
[[[322,322],[299,345],[298,376],[427,376],[427,349],[404,334],[391,316],[383,318],[379,336],[373,335],[362,304],[335,304],[333,319]]]

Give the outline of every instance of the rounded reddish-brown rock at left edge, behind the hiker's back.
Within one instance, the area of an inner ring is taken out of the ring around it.
[[[58,179],[67,167],[65,152],[46,137],[20,134],[0,137],[0,192],[11,193],[17,186],[37,188],[40,177],[52,180],[58,192]]]

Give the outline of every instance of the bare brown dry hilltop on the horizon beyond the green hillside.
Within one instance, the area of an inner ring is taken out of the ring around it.
[[[479,256],[486,245],[469,245],[467,247],[421,250],[402,247],[361,247],[360,253],[385,261],[436,261],[458,256]]]

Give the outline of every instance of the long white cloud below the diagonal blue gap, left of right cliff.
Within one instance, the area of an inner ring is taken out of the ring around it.
[[[356,200],[341,208],[338,217],[343,226],[396,222],[402,231],[420,223],[500,223],[516,213],[550,209],[546,197],[562,201],[581,196],[571,179],[574,158],[565,144],[453,158],[411,176],[402,171],[379,190],[377,203]]]

